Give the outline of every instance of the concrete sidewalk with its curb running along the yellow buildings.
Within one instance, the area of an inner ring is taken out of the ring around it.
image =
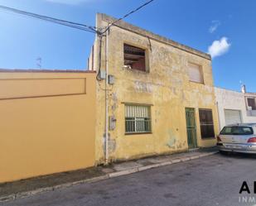
[[[0,184],[0,203],[46,191],[70,187],[75,184],[106,180],[120,175],[128,175],[163,165],[176,164],[181,161],[188,161],[203,156],[214,155],[217,152],[216,148],[200,149],[180,154],[147,157],[140,160],[130,160],[108,166],[99,166],[85,170],[45,175],[27,180]]]

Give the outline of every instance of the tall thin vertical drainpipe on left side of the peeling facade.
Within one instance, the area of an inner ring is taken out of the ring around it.
[[[109,26],[109,25],[108,25]],[[105,46],[105,65],[106,65],[106,74],[105,74],[105,165],[109,164],[109,93],[108,93],[108,84],[109,84],[109,30],[106,32],[106,46]]]

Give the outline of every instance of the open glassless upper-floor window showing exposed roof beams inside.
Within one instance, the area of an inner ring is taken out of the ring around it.
[[[146,71],[145,50],[136,46],[123,45],[124,66],[128,69]]]

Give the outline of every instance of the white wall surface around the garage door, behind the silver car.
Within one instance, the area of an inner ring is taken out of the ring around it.
[[[228,89],[215,88],[216,102],[220,118],[220,128],[225,127],[225,109],[239,110],[242,122],[256,122],[256,117],[249,117],[246,111],[244,93],[231,91]]]

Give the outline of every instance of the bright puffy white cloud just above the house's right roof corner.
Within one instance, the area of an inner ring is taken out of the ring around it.
[[[220,40],[212,42],[211,46],[208,47],[208,54],[210,54],[212,58],[224,55],[229,51],[230,46],[231,43],[229,43],[228,38],[224,36]]]

